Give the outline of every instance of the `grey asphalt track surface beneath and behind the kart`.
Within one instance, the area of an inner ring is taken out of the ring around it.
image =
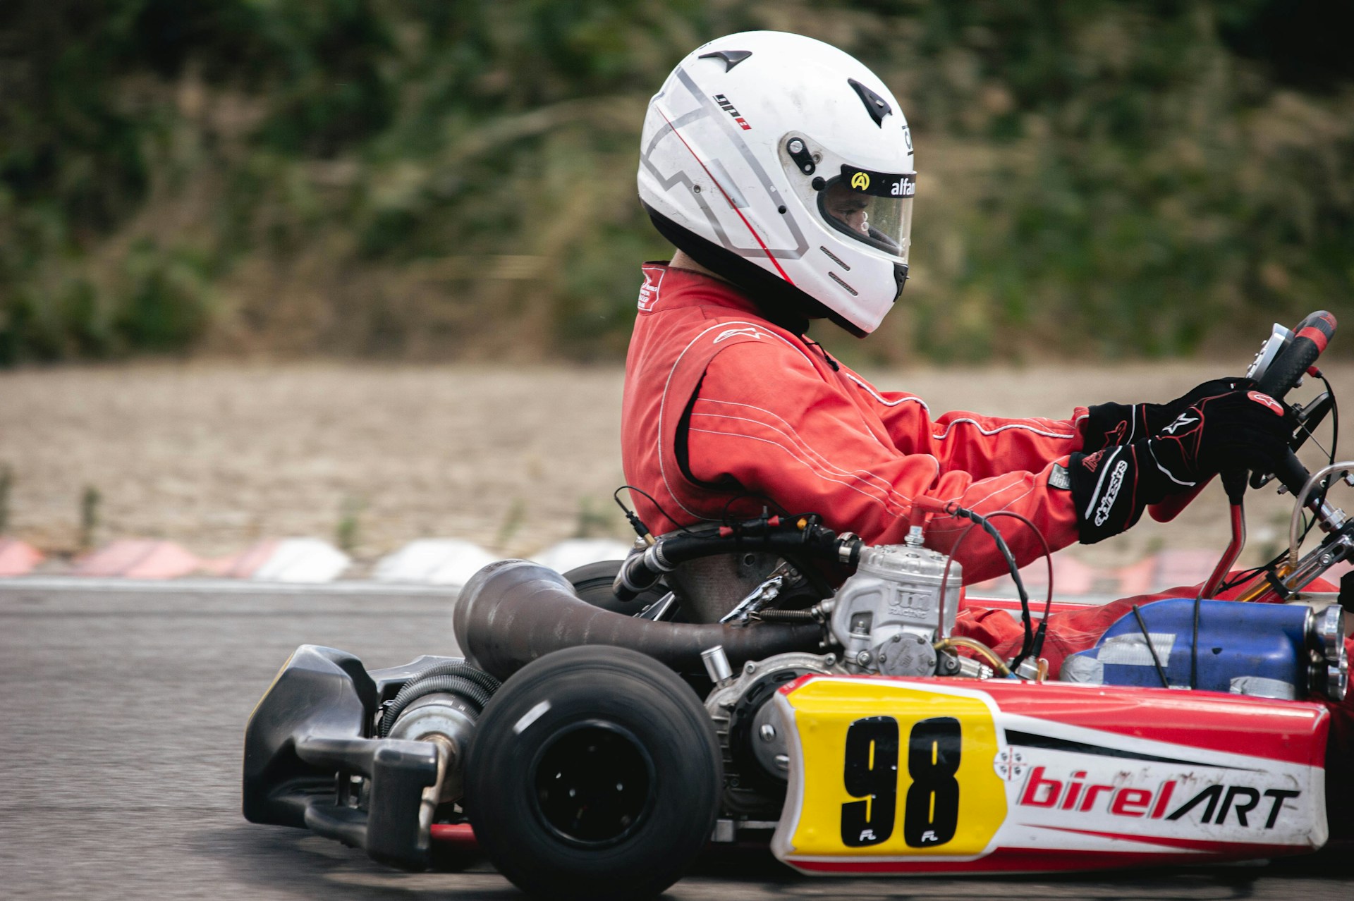
[[[303,643],[368,667],[454,653],[429,591],[0,584],[0,898],[520,898],[487,864],[406,874],[240,814],[244,724]],[[711,852],[669,898],[1354,898],[1354,863],[821,879]]]

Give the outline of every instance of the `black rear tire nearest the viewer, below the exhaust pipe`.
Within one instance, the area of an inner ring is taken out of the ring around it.
[[[695,693],[626,648],[556,651],[494,695],[466,760],[490,862],[538,898],[649,898],[714,828],[723,766]]]

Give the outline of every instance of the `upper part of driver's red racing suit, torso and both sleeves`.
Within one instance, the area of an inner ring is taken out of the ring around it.
[[[1085,409],[1062,421],[932,418],[921,398],[879,391],[819,345],[768,322],[734,285],[663,264],[643,273],[621,452],[630,484],[673,519],[636,495],[654,532],[753,515],[770,498],[868,544],[900,544],[911,499],[930,495],[978,513],[1020,513],[1053,549],[1076,541],[1066,465],[1082,446]],[[992,524],[1021,565],[1041,553],[1018,521]],[[927,545],[949,551],[967,526],[933,518]],[[980,530],[964,540],[959,561],[965,582],[1006,572]]]

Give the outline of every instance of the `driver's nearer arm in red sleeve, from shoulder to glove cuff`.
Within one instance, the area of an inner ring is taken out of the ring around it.
[[[922,494],[957,501],[979,513],[1017,511],[1032,519],[1055,549],[1076,541],[1072,495],[1059,487],[1066,483],[1053,469],[1056,461],[986,479],[955,467],[944,469],[927,452],[930,437],[921,452],[900,451],[850,390],[838,379],[825,379],[780,342],[730,346],[711,361],[692,402],[686,433],[691,473],[707,483],[733,478],[743,490],[765,494],[789,511],[821,513],[834,529],[856,532],[871,544],[900,542],[911,498]],[[967,525],[951,517],[933,519],[927,542],[948,549]],[[1020,522],[999,518],[994,525],[1017,561],[1039,556],[1039,540]],[[965,540],[960,560],[965,582],[1006,570],[980,530]]]

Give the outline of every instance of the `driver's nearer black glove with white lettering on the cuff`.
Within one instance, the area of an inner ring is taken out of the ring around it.
[[[1082,544],[1124,532],[1147,505],[1223,469],[1273,471],[1288,453],[1292,430],[1278,400],[1228,391],[1194,400],[1150,438],[1074,453],[1068,475]]]

